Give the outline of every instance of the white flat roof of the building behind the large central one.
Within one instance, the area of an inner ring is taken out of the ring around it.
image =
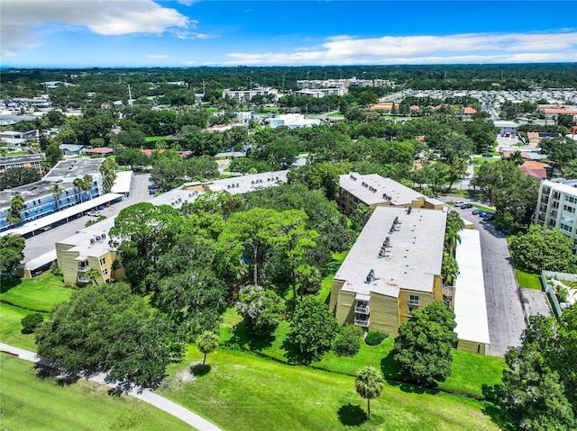
[[[339,185],[369,206],[384,202],[390,202],[394,206],[403,206],[410,205],[411,202],[428,200],[423,193],[418,193],[378,174],[360,175],[351,172],[340,175]]]

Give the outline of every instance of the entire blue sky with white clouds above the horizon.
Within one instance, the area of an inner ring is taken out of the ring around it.
[[[0,67],[577,62],[577,2],[0,0]]]

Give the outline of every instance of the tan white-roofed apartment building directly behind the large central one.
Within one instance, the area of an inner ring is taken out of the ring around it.
[[[444,203],[418,193],[406,185],[378,174],[360,175],[356,172],[340,175],[334,198],[341,211],[353,214],[359,203],[379,206],[413,207],[440,210]]]

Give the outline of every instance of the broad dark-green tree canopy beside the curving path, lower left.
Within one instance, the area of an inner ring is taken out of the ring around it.
[[[57,304],[36,329],[38,355],[69,373],[107,373],[120,388],[154,387],[184,343],[162,313],[125,283],[89,285]]]

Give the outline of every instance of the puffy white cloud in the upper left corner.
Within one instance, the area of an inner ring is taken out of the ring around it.
[[[0,20],[2,56],[38,46],[34,31],[47,23],[87,27],[105,36],[161,34],[194,23],[151,0],[3,0]]]

